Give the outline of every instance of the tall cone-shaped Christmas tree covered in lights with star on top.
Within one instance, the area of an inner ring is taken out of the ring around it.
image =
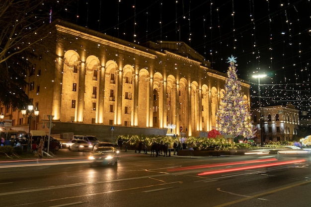
[[[232,135],[234,138],[237,136],[252,138],[254,133],[251,116],[247,101],[243,100],[243,94],[240,92],[240,81],[237,79],[234,66],[235,59],[233,56],[228,58],[228,63],[230,63],[228,78],[217,114],[218,131],[222,135]]]

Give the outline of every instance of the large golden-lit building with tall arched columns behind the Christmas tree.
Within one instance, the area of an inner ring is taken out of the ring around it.
[[[53,123],[70,123],[67,132],[81,123],[126,127],[121,134],[168,128],[167,134],[183,136],[217,127],[227,76],[210,69],[185,43],[137,45],[60,20],[43,31],[49,37],[36,48],[38,58],[27,77],[26,91],[40,110],[32,130],[48,132],[42,124],[47,115],[54,116]],[[241,92],[250,105],[249,85],[241,82]],[[19,111],[7,110],[5,116],[13,120],[11,129],[27,127]],[[60,133],[58,124],[52,134]]]

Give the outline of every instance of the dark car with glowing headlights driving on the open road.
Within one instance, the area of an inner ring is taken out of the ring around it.
[[[88,157],[92,165],[114,165],[118,163],[119,150],[113,146],[99,146],[94,151],[93,154]]]

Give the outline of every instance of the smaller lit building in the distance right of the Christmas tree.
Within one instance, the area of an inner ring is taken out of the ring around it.
[[[292,140],[297,135],[299,110],[291,104],[287,106],[268,106],[261,108],[263,142]],[[251,109],[253,125],[258,129],[256,142],[260,143],[259,108]]]

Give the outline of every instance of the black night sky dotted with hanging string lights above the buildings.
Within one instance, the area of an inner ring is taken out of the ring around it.
[[[308,112],[301,119],[310,118],[310,0],[60,0],[52,10],[137,44],[183,41],[221,72],[233,55],[238,77],[251,85],[252,106],[258,105],[252,74],[266,73],[260,80],[263,106],[292,102]]]

